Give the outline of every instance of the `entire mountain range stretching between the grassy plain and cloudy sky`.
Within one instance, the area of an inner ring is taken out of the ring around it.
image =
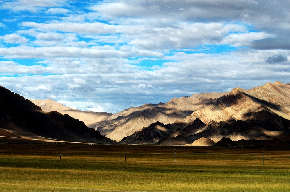
[[[1,111],[0,136],[109,144],[290,145],[290,85],[278,81],[249,90],[234,88],[231,92],[173,98],[116,114],[71,109],[50,99],[27,100],[1,87],[2,92],[9,93],[1,95],[2,103],[18,113],[8,118],[10,111],[6,115]],[[21,105],[6,102],[9,98],[21,100]],[[34,117],[28,118],[33,123],[19,120],[27,114]],[[42,128],[35,128],[34,122],[42,122]]]

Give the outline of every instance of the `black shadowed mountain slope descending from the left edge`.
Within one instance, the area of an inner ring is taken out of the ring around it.
[[[0,86],[0,136],[25,139],[116,144],[84,122],[59,112],[44,112]]]

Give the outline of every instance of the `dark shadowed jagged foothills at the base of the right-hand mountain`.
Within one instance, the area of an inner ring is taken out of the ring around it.
[[[247,122],[229,119],[227,121],[211,121],[204,124],[198,118],[184,129],[177,129],[157,142],[161,145],[184,145],[190,144],[202,137],[218,142],[222,137],[231,140],[271,140],[284,134],[283,139],[288,141],[285,134],[290,133],[290,120],[269,111],[259,111],[251,114]],[[259,126],[260,125],[260,126]],[[288,136],[288,135],[287,135]],[[290,140],[290,138],[289,138]],[[178,144],[177,141],[180,141]]]

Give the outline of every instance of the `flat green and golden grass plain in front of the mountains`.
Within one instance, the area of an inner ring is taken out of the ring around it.
[[[0,191],[290,191],[288,148],[61,146],[0,144]]]

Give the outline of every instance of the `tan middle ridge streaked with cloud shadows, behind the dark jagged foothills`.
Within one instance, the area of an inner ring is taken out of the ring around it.
[[[173,98],[167,103],[144,104],[140,107],[131,107],[100,123],[96,130],[108,138],[120,141],[143,127],[157,121],[164,124],[184,120],[186,116],[202,107],[216,103],[225,93],[194,94],[190,97]]]

